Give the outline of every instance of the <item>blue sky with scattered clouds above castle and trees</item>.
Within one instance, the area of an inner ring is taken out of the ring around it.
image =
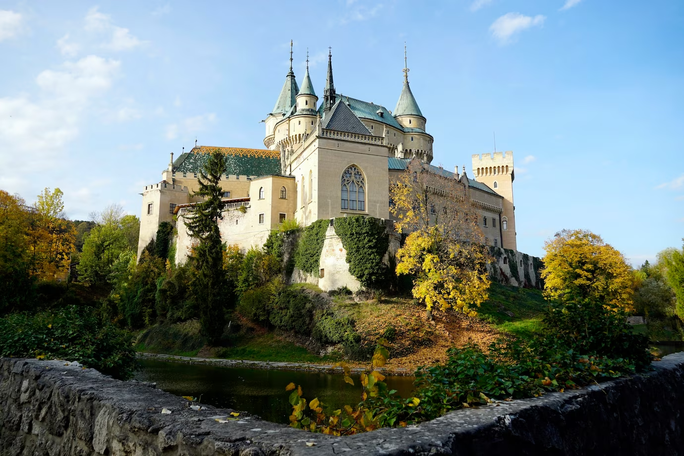
[[[447,169],[513,150],[518,250],[588,228],[634,264],[684,237],[681,0],[0,1],[0,189],[84,219],[185,146],[263,147],[289,41],[322,94],[411,88]]]

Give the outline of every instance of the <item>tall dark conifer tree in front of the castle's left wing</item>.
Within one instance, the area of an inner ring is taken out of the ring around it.
[[[218,228],[218,221],[223,219],[220,180],[224,172],[226,157],[220,150],[214,150],[204,170],[200,171],[200,189],[193,193],[203,201],[196,204],[192,215],[185,219],[190,236],[198,241],[190,256],[197,271],[190,287],[199,307],[202,335],[212,344],[218,342],[223,331],[223,300],[228,293]]]

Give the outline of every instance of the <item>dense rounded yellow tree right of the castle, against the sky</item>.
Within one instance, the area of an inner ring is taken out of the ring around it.
[[[634,276],[624,256],[589,230],[562,230],[544,243],[544,296],[595,299],[632,308]]]

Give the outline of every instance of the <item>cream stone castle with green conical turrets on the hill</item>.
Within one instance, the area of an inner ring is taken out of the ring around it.
[[[263,122],[263,149],[195,146],[175,161],[171,154],[161,181],[142,192],[138,256],[159,224],[172,222],[176,214],[176,262],[185,260],[191,240],[182,216],[196,202],[192,192],[198,189],[198,173],[215,149],[226,154],[221,180],[226,209],[240,209],[220,222],[222,238],[244,250],[263,245],[269,232],[287,219],[300,226],[349,215],[391,219],[389,182],[412,159],[420,159],[434,173],[460,180],[479,210],[486,243],[517,250],[512,152],[473,155],[473,178],[465,167],[449,172],[430,165],[434,137],[411,92],[406,61],[404,85],[390,111],[337,93],[331,53],[319,99],[308,74],[308,59],[300,87],[290,51],[285,84]]]

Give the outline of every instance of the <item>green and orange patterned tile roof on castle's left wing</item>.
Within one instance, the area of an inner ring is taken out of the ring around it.
[[[280,173],[280,152],[268,149],[198,146],[174,162],[174,172],[200,172],[212,150],[226,155],[226,174],[270,176]]]

